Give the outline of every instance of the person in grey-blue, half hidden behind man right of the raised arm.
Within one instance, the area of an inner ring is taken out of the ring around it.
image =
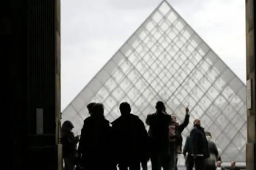
[[[187,137],[184,148],[183,155],[185,157],[185,165],[187,170],[193,170],[194,167],[194,157],[191,155],[192,153],[192,143],[190,136]]]

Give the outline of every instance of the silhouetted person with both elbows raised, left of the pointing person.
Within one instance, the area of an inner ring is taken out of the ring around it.
[[[170,115],[165,113],[165,105],[156,103],[156,113],[149,114],[146,124],[150,126],[150,150],[152,170],[169,170],[169,125],[172,122]]]

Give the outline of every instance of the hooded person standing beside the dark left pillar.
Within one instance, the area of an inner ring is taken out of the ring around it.
[[[64,159],[64,170],[74,170],[75,156],[77,154],[76,144],[79,141],[79,136],[74,136],[72,129],[74,125],[66,120],[61,126],[61,144],[62,156]]]

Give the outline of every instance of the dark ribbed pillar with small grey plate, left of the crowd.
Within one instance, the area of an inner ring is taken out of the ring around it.
[[[60,0],[27,0],[27,9],[27,169],[60,170]]]

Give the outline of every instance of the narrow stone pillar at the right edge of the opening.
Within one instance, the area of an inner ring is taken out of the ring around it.
[[[246,169],[255,170],[255,113],[256,113],[256,78],[255,78],[255,8],[254,0],[245,0],[246,10],[246,79],[251,80],[251,93],[247,94],[247,145],[246,145]],[[247,85],[248,86],[248,85]],[[251,98],[251,100],[250,100]]]

